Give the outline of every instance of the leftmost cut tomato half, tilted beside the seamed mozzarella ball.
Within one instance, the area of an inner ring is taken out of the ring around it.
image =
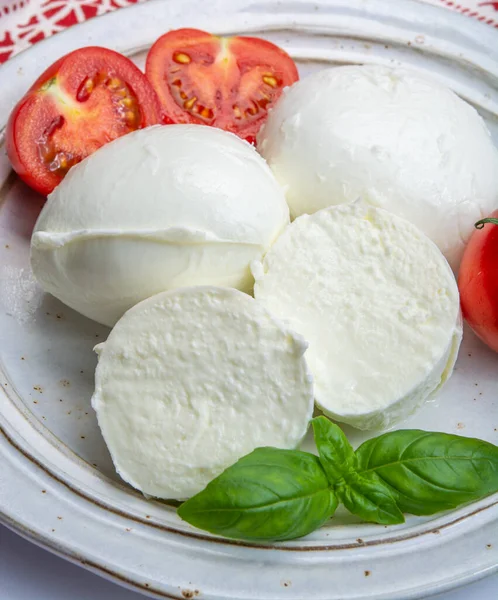
[[[7,154],[30,187],[49,194],[107,142],[160,122],[159,101],[138,67],[107,48],[81,48],[49,67],[14,108]]]

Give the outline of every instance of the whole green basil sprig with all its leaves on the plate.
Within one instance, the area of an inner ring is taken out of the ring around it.
[[[338,502],[364,521],[403,523],[498,492],[498,447],[446,433],[400,430],[356,452],[342,430],[312,420],[319,456],[258,448],[183,503],[190,524],[225,537],[283,541],[311,533]]]

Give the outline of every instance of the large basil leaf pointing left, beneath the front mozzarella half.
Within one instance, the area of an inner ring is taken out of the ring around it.
[[[311,533],[337,508],[320,461],[298,450],[257,448],[178,509],[211,533],[244,540],[290,540]]]

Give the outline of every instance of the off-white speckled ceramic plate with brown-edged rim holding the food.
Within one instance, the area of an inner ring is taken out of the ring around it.
[[[405,64],[472,102],[498,142],[498,36],[425,4],[388,0],[151,0],[72,28],[0,70],[0,128],[56,58],[105,45],[143,64],[166,30],[251,33],[282,45],[301,75],[329,64]],[[3,141],[2,141],[3,143]],[[0,508],[3,522],[104,576],[160,598],[362,600],[426,597],[498,568],[498,496],[385,528],[339,515],[305,539],[251,545],[205,535],[114,473],[90,407],[108,334],[33,280],[29,237],[42,199],[0,157]],[[468,330],[436,402],[403,427],[498,443],[498,355]],[[353,443],[362,436],[347,431]]]

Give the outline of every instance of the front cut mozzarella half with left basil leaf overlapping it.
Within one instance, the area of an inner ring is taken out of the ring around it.
[[[189,498],[257,447],[295,448],[308,428],[304,340],[237,290],[153,296],[96,350],[93,408],[116,470],[146,495]]]

